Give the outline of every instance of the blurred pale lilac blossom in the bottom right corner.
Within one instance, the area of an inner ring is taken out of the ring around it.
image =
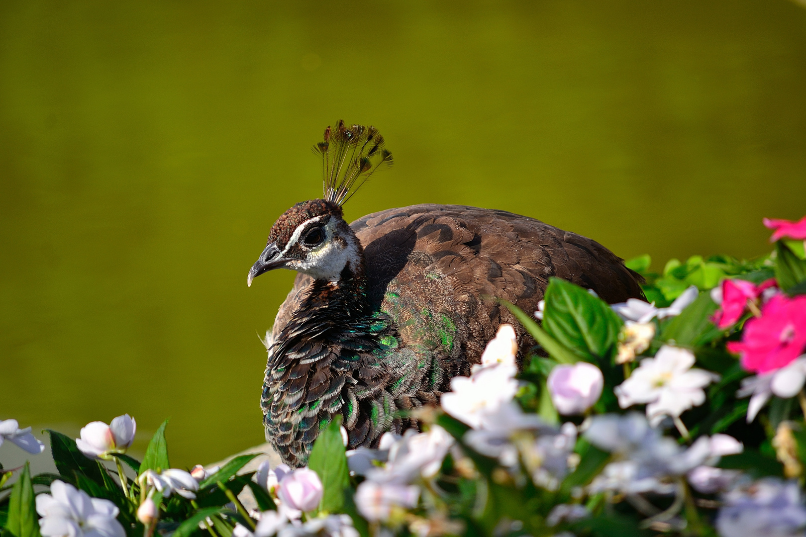
[[[723,495],[721,537],[796,537],[806,529],[806,507],[796,481],[766,477]]]

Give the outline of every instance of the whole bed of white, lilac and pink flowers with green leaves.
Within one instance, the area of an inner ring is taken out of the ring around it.
[[[0,467],[2,537],[806,535],[806,220],[765,225],[752,261],[630,260],[648,302],[552,279],[504,304],[538,343],[520,371],[504,324],[420,432],[346,451],[336,416],[305,468],[171,468],[165,424],[136,461],[128,415],[51,431],[58,475]]]

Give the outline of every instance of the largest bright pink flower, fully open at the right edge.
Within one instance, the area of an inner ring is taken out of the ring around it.
[[[763,374],[787,366],[806,347],[806,296],[773,296],[762,306],[761,317],[745,324],[742,341],[730,341],[728,350],[742,355],[742,367]]]

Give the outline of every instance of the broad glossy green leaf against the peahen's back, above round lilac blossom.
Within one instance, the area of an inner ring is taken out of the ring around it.
[[[579,357],[609,358],[621,324],[613,309],[601,299],[563,279],[550,279],[543,328]]]

